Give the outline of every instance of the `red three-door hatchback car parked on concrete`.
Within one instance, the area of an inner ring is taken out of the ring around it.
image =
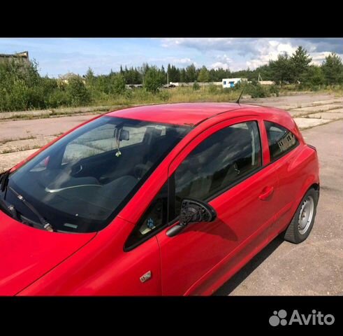
[[[0,182],[0,295],[210,295],[319,200],[289,113],[244,104],[107,113]]]

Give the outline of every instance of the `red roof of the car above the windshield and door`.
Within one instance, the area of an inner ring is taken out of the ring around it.
[[[242,114],[243,110],[245,111]],[[173,125],[198,125],[204,120],[217,116],[219,113],[232,111],[232,117],[244,116],[247,109],[252,113],[280,111],[268,107],[237,104],[237,103],[177,103],[177,104],[156,104],[136,106],[129,109],[122,109],[106,113],[105,116],[144,120],[154,123],[167,123]],[[283,114],[283,113],[282,113]]]

